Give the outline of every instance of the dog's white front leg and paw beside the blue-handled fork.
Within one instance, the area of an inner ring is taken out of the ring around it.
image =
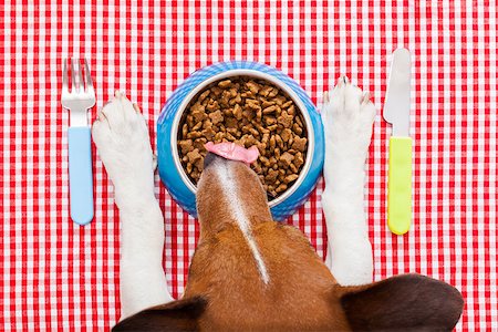
[[[123,320],[173,300],[162,266],[164,219],[154,196],[155,159],[144,117],[121,92],[100,111],[92,136],[120,208]]]

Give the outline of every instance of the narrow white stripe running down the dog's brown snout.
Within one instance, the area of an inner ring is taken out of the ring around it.
[[[242,201],[240,201],[237,183],[235,181],[235,178],[230,173],[227,163],[216,163],[216,165],[214,166],[216,175],[218,176],[218,181],[222,187],[227,206],[230,209],[234,219],[236,220],[237,225],[242,231],[243,237],[247,240],[249,249],[251,250],[252,256],[255,257],[256,264],[258,266],[258,270],[259,273],[261,274],[262,281],[266,284],[268,284],[268,282],[270,281],[270,276],[268,274],[264,261],[261,257],[261,253],[259,252],[255,238],[252,237],[251,224],[248,217],[246,216]]]

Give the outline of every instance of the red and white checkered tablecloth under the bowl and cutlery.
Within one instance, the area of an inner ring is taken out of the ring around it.
[[[0,330],[106,330],[120,317],[120,221],[95,149],[95,219],[79,227],[69,217],[61,59],[85,55],[97,107],[125,90],[153,136],[172,91],[212,62],[273,65],[319,105],[339,74],[350,75],[378,110],[365,185],[375,279],[445,280],[465,297],[458,330],[497,331],[495,0],[6,0],[0,18]],[[390,54],[401,45],[414,60],[414,220],[396,237],[385,225],[390,129],[381,108]],[[178,297],[198,226],[156,181]],[[321,256],[322,187],[288,220]]]

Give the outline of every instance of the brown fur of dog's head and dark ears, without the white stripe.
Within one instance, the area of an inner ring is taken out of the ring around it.
[[[114,331],[448,331],[463,310],[453,287],[417,274],[341,287],[298,229],[272,221],[266,193],[229,163],[270,276],[264,284],[209,165],[198,185],[200,239],[183,300],[145,310]]]

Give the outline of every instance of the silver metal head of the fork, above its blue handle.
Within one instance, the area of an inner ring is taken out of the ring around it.
[[[95,105],[95,91],[93,89],[92,76],[89,63],[84,60],[84,73],[81,61],[71,60],[71,91],[69,90],[68,60],[64,59],[62,72],[62,95],[61,103],[70,111],[71,126],[87,126],[86,111]]]

